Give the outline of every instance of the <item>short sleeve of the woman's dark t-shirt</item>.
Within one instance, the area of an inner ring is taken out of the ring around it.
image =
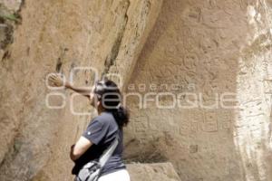
[[[88,128],[83,132],[83,137],[89,139],[92,144],[98,145],[105,137],[107,128],[98,119],[93,119]]]

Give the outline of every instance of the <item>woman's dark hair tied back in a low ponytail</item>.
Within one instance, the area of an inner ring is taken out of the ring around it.
[[[119,128],[129,123],[129,111],[121,105],[121,91],[114,81],[107,79],[96,81],[94,93],[97,95],[98,100],[102,102],[102,107],[106,111],[112,112]]]

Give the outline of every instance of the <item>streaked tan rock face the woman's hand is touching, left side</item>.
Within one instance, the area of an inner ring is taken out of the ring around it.
[[[157,0],[24,1],[13,43],[1,54],[0,180],[73,179],[69,149],[91,116],[73,116],[72,92],[48,89],[46,76],[74,72],[73,81],[88,86],[93,71],[74,68],[95,68],[98,79],[113,67],[117,73],[132,70],[160,5]],[[48,95],[50,105],[64,108],[48,109]],[[91,112],[88,102],[78,97],[73,102],[74,111]]]

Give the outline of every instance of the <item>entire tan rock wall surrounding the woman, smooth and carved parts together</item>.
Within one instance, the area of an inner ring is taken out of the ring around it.
[[[73,180],[94,114],[46,75],[88,86],[92,67],[128,96],[126,162],[173,165],[129,165],[132,181],[270,181],[271,15],[270,0],[0,0],[0,180]]]

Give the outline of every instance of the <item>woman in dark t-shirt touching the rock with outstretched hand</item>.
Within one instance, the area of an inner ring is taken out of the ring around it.
[[[57,74],[49,77],[54,86],[63,86],[63,79]],[[74,161],[73,175],[88,162],[97,160],[110,147],[119,134],[119,144],[102,168],[99,181],[130,181],[130,176],[122,160],[123,131],[129,122],[127,110],[121,106],[121,92],[113,81],[97,81],[92,90],[77,89],[68,81],[64,86],[83,94],[91,100],[98,116],[92,119],[79,140],[71,147],[70,157]],[[76,177],[75,177],[76,180]]]

